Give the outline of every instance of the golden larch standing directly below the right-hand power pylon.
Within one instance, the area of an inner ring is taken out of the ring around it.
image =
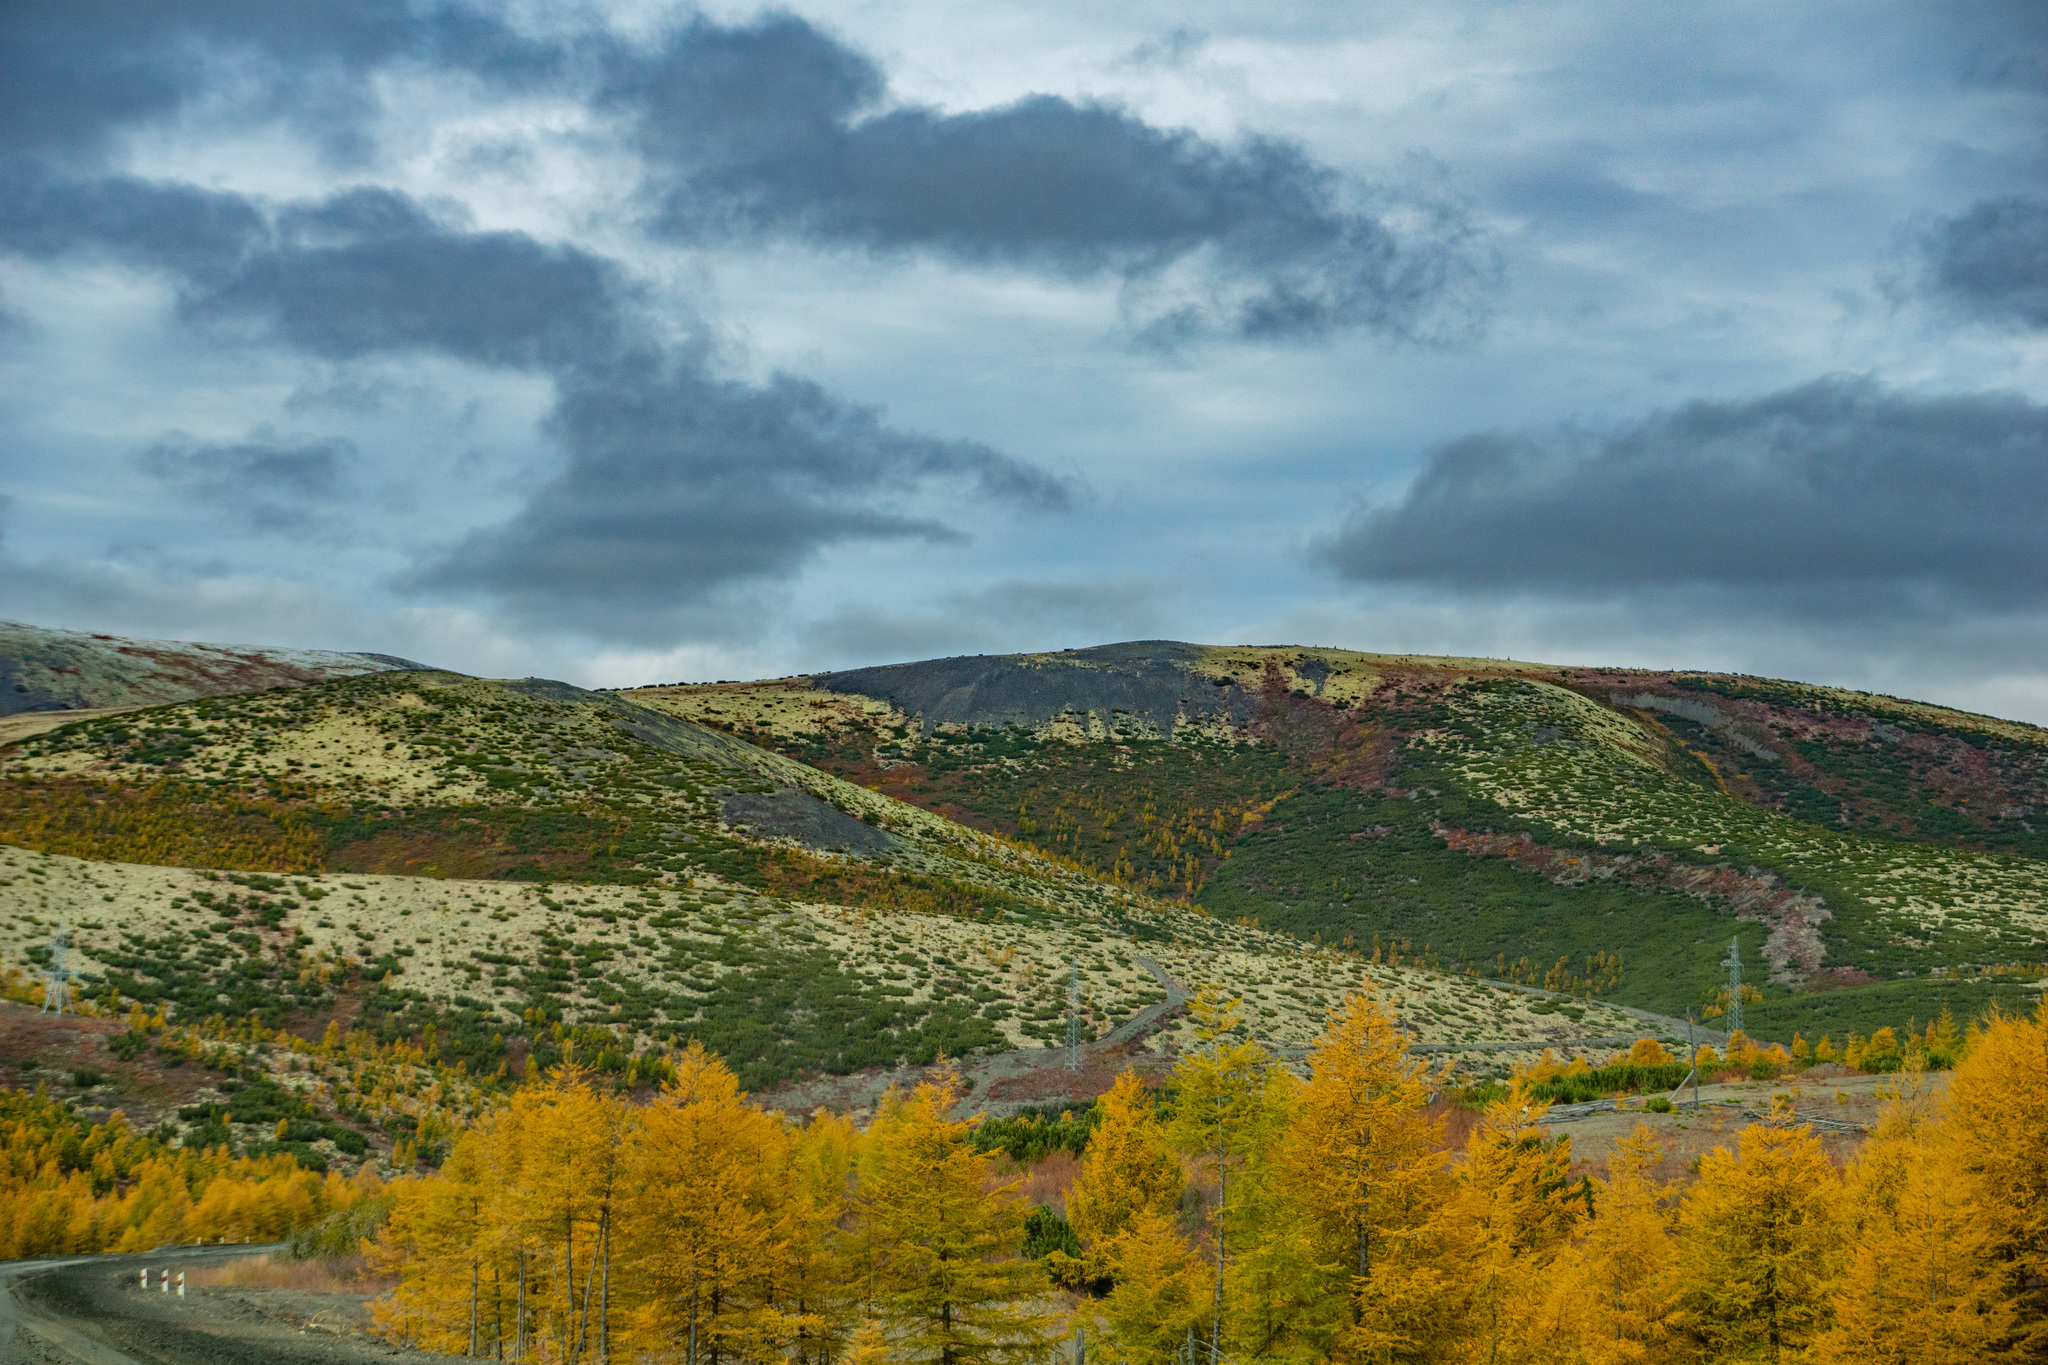
[[[1802,1359],[1841,1261],[1841,1179],[1808,1128],[1753,1124],[1700,1158],[1679,1209],[1673,1283],[1712,1359]]]

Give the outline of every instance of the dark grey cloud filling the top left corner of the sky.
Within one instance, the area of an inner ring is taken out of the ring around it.
[[[565,51],[463,6],[406,0],[12,0],[0,6],[0,147],[90,158],[109,135],[227,100],[362,151],[367,76],[395,61],[524,86]]]

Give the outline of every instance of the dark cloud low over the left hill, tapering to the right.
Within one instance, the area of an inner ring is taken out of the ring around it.
[[[541,624],[657,643],[707,589],[788,577],[827,544],[958,540],[883,505],[930,479],[1026,505],[1067,501],[1036,469],[893,432],[817,385],[721,383],[653,354],[571,385],[551,426],[569,467],[512,522],[422,569],[416,587],[483,591]]]

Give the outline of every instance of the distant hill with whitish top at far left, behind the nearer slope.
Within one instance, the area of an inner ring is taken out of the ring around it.
[[[0,716],[27,710],[162,706],[424,663],[332,649],[129,641],[0,620]]]

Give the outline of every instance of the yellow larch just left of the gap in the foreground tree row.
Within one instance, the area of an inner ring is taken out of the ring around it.
[[[1036,1361],[1049,1349],[1044,1275],[1020,1257],[1018,1185],[948,1119],[952,1072],[891,1091],[866,1134],[854,1191],[866,1308],[891,1355],[928,1365]]]

